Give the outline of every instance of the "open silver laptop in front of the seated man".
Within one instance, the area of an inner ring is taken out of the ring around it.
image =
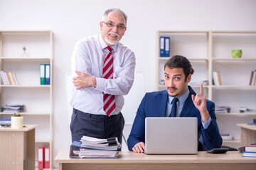
[[[196,154],[197,118],[146,118],[146,154]]]

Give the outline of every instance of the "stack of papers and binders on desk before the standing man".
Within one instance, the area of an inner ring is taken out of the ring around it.
[[[70,146],[71,158],[118,158],[121,144],[117,137],[99,139],[83,136],[81,142],[74,141]],[[79,147],[78,152],[74,147]]]

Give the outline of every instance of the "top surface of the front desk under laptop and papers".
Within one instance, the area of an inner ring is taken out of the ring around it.
[[[119,152],[119,159],[71,159],[69,151],[60,151],[56,155],[55,163],[78,164],[136,164],[136,163],[252,163],[256,164],[256,157],[242,157],[238,151],[225,154],[137,154],[134,152]]]

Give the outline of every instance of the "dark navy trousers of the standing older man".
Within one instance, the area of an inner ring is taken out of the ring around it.
[[[90,136],[106,139],[117,137],[122,143],[122,131],[124,129],[124,117],[122,113],[117,115],[93,115],[73,108],[70,130],[72,142],[80,141],[82,136]]]

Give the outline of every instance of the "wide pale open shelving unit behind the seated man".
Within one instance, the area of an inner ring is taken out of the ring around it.
[[[231,113],[216,113],[221,134],[230,134],[235,140],[223,145],[240,147],[240,129],[237,123],[252,123],[256,118],[256,86],[249,86],[250,74],[256,69],[255,31],[158,31],[156,35],[156,90],[165,89],[164,64],[169,57],[159,57],[159,38],[170,38],[170,57],[183,55],[191,61],[191,86],[199,93],[200,82],[206,97],[215,106],[229,106]],[[234,59],[231,50],[242,50],[242,57]],[[212,72],[220,72],[222,85],[212,82]],[[193,85],[192,85],[193,84]],[[196,85],[195,85],[196,84]],[[240,113],[240,107],[250,112]]]

